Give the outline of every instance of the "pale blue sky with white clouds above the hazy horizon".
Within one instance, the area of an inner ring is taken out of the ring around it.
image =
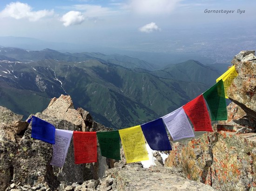
[[[254,30],[255,7],[255,0],[1,0],[0,37],[177,51]]]

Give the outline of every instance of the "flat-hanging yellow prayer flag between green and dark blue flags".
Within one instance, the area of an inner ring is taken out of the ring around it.
[[[119,134],[127,163],[148,160],[148,152],[140,125],[121,129]]]

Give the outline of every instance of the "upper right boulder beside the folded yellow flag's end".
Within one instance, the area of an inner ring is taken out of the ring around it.
[[[228,89],[229,99],[256,121],[256,57],[255,51],[242,51],[234,57],[238,76]]]

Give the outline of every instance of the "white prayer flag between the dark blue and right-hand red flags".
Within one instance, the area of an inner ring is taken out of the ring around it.
[[[189,123],[184,109],[178,108],[168,115],[162,117],[173,140],[195,137],[194,131]]]

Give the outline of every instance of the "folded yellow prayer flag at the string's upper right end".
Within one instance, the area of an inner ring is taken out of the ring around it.
[[[225,91],[225,97],[228,99],[229,96],[227,94],[227,90],[229,89],[229,86],[233,82],[234,78],[238,76],[235,66],[233,65],[231,68],[229,68],[228,71],[226,71],[224,74],[222,74],[220,77],[216,79],[216,82],[219,82],[221,79],[223,81],[224,85],[224,91]]]

